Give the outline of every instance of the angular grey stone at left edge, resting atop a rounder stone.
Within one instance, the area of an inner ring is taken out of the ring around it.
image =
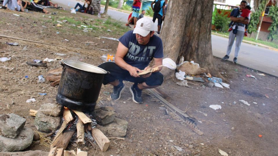
[[[22,131],[26,119],[16,114],[0,115],[0,133],[8,138],[15,138]]]

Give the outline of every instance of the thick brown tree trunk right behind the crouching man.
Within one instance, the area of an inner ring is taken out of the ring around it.
[[[215,77],[221,77],[213,63],[211,47],[211,17],[213,0],[177,0],[168,4],[165,23],[161,31],[164,58],[177,64],[181,56],[184,61],[194,61]],[[164,69],[164,68],[163,68]],[[164,76],[173,71],[162,70]]]

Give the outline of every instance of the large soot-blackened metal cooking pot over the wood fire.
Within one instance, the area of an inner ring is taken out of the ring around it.
[[[106,70],[83,62],[62,60],[63,72],[56,101],[79,111],[93,111]]]

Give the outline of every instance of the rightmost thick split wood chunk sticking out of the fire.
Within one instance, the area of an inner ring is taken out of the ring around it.
[[[105,152],[110,145],[109,139],[97,128],[92,129],[92,136],[101,151]]]

